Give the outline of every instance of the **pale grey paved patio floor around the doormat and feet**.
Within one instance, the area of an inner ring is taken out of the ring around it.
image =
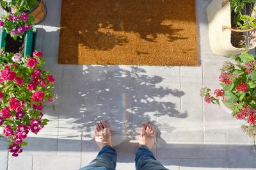
[[[44,52],[56,78],[60,100],[44,109],[51,122],[13,158],[0,139],[0,169],[79,169],[99,149],[93,142],[96,123],[111,124],[118,152],[117,169],[135,169],[134,152],[143,121],[157,127],[154,153],[169,169],[256,169],[253,139],[241,122],[216,105],[204,104],[202,86],[218,88],[220,67],[227,58],[209,47],[205,8],[196,0],[198,67],[58,65],[61,0],[46,0],[47,17],[38,27],[36,49]]]

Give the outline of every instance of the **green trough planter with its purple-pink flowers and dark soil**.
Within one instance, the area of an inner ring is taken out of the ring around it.
[[[2,29],[0,35],[0,47],[6,52],[19,52],[26,56],[33,50],[33,36],[35,27],[32,27],[33,16],[24,12],[8,13],[0,20]]]

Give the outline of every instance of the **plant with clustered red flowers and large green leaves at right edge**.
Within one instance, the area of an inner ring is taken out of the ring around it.
[[[232,55],[234,63],[225,62],[219,77],[221,89],[202,88],[201,96],[209,104],[223,102],[237,120],[244,120],[242,126],[248,135],[256,136],[256,61],[252,54],[244,52]]]

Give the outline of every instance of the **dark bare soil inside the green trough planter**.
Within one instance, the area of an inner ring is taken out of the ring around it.
[[[9,34],[5,37],[5,51],[6,52],[13,52],[13,53],[20,53],[24,54],[25,50],[25,36],[22,36],[22,38],[17,38],[17,40],[14,40]]]

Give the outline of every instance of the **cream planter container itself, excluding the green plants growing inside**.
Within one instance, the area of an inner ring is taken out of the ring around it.
[[[212,52],[220,56],[227,56],[227,54],[239,54],[244,48],[237,48],[231,44],[231,31],[225,29],[223,26],[231,27],[231,10],[230,3],[222,6],[224,0],[212,0],[207,6],[207,17],[209,24],[209,41]],[[252,13],[254,15],[254,13]],[[250,31],[250,35],[255,35],[255,30]],[[249,49],[256,47],[255,40],[250,42]]]

